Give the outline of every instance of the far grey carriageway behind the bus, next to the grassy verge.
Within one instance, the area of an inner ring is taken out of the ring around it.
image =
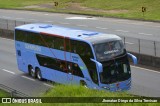
[[[143,39],[140,41],[140,53],[154,56],[156,49],[156,55],[160,57],[160,23],[0,9],[0,28],[13,30],[15,26],[37,22],[117,34],[122,38],[126,37],[127,50],[137,53],[139,53],[138,39]],[[156,47],[153,41],[157,41]]]

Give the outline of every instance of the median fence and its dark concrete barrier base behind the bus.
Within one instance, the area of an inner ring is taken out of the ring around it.
[[[0,19],[0,37],[13,39],[14,28],[28,23],[33,22]],[[138,57],[139,64],[160,68],[160,42],[124,36],[120,37],[127,51]]]

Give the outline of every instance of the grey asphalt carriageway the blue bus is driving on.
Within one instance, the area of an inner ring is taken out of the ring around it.
[[[0,84],[30,96],[41,95],[52,87],[46,82],[30,78],[17,69],[14,41],[5,38],[0,38]],[[159,88],[160,72],[132,66],[132,89],[129,93],[160,97]]]

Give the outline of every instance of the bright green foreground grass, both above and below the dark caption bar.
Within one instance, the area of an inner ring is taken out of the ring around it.
[[[74,85],[54,85],[42,97],[135,97],[127,92],[107,92]],[[85,101],[85,100],[84,100]],[[1,104],[0,104],[1,105]],[[2,104],[3,105],[3,104]],[[7,104],[7,106],[126,106],[126,103],[43,103],[43,104]],[[159,103],[127,103],[127,106],[158,106]]]

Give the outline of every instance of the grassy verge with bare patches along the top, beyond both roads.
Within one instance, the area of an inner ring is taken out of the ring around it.
[[[54,6],[54,2],[58,6]],[[0,8],[160,21],[160,0],[0,0]],[[26,7],[31,6],[31,7]],[[142,14],[142,6],[147,12]]]

